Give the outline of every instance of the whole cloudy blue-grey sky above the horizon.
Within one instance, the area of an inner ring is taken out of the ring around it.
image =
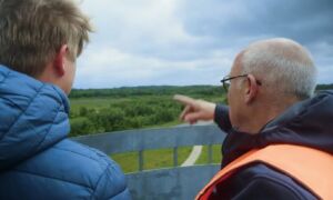
[[[305,46],[319,82],[333,74],[330,0],[84,0],[97,32],[75,88],[219,84],[242,48],[285,37]]]

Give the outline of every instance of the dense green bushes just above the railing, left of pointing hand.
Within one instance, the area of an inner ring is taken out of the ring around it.
[[[80,107],[71,112],[70,136],[139,129],[176,120],[181,106],[170,98],[124,99],[105,108]]]

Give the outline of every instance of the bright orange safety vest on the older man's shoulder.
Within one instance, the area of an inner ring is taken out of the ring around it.
[[[220,170],[195,199],[209,199],[218,183],[230,178],[241,167],[258,161],[297,180],[319,198],[333,199],[333,156],[293,144],[271,144],[246,152]]]

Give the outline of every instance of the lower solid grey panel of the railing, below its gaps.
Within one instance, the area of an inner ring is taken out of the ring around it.
[[[218,172],[220,164],[191,166],[129,173],[128,184],[133,199],[188,200]]]

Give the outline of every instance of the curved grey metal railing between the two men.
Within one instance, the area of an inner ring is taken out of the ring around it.
[[[225,134],[215,126],[189,126],[142,129],[84,136],[73,140],[97,148],[107,154],[138,152],[139,171],[127,173],[133,199],[193,199],[215,174],[220,164],[212,163],[212,146],[221,144]],[[178,167],[178,149],[208,146],[208,164]],[[173,168],[144,170],[144,151],[173,149]]]

